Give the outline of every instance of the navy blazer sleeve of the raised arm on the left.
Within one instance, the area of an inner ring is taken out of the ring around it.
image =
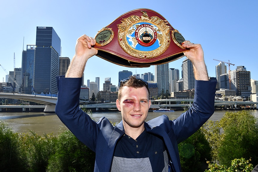
[[[81,78],[57,77],[55,112],[63,124],[86,146],[95,151],[98,124],[79,107]],[[93,132],[94,131],[94,132]]]

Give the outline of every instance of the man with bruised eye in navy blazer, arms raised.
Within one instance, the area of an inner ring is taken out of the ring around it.
[[[113,127],[107,118],[98,122],[79,108],[81,77],[87,60],[97,54],[95,39],[77,40],[75,56],[65,77],[58,77],[56,114],[71,132],[96,153],[94,171],[180,172],[177,144],[197,131],[214,112],[216,81],[208,78],[201,45],[189,41],[185,56],[195,74],[193,106],[174,121],[166,115],[145,119],[151,105],[147,83],[135,77],[122,80],[116,106],[122,121]]]

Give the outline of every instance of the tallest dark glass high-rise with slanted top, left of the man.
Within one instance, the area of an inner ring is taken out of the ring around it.
[[[61,39],[52,27],[37,27],[34,60],[34,89],[57,93]]]

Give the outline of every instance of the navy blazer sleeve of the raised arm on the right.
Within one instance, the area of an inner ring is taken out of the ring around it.
[[[216,80],[195,80],[192,107],[172,121],[177,143],[190,137],[213,115],[216,84]]]

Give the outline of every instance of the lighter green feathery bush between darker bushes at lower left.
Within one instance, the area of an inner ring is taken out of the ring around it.
[[[35,132],[20,135],[21,150],[28,171],[44,171],[48,165],[48,159],[54,153],[57,141],[55,136],[39,136]]]

